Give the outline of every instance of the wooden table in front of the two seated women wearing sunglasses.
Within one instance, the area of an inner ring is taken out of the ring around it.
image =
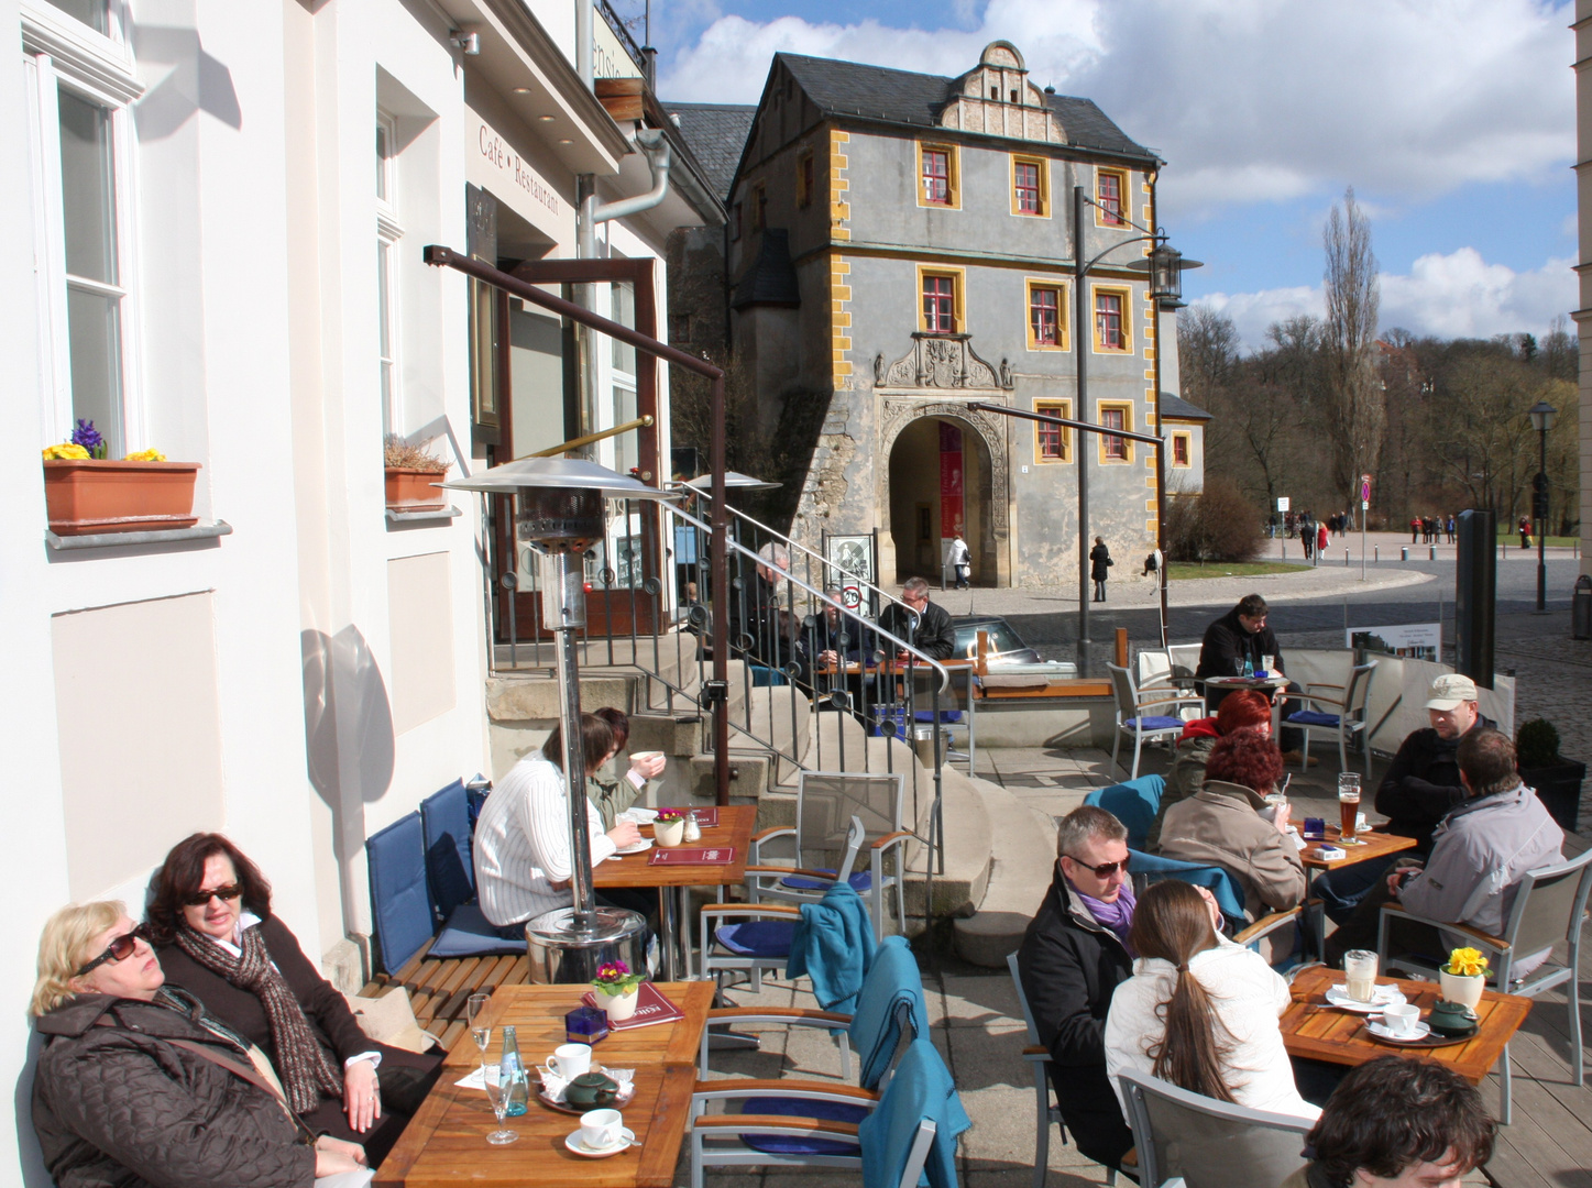
[[[501,1054],[503,1024],[517,1030],[525,1064],[540,1064],[564,1043],[564,1014],[579,1005],[586,986],[503,986],[487,1006],[494,1045],[489,1057]],[[519,1142],[492,1147],[486,1135],[497,1129],[497,1118],[486,1092],[462,1089],[458,1081],[479,1064],[476,1046],[454,1046],[443,1077],[388,1153],[374,1183],[404,1188],[521,1188],[527,1183],[572,1185],[578,1188],[667,1188],[673,1183],[680,1145],[685,1142],[696,1088],[696,1056],[713,1002],[713,984],[659,983],[657,989],[675,1003],[685,1019],[675,1024],[615,1032],[597,1045],[597,1062],[635,1069],[635,1096],[624,1105],[624,1121],[642,1147],[608,1159],[583,1159],[564,1147],[564,1139],[579,1129],[575,1115],[549,1110],[535,1099],[521,1118],[505,1124],[519,1132]]]

